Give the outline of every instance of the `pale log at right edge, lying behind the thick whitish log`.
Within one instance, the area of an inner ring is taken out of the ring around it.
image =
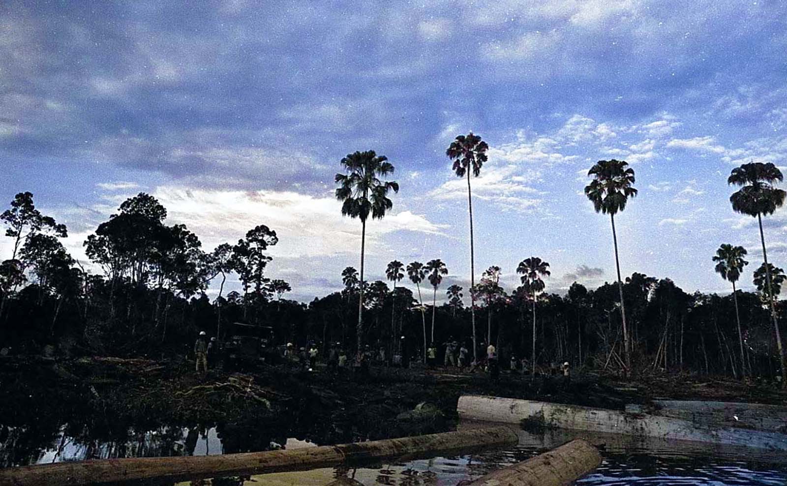
[[[648,405],[626,405],[626,411],[688,420],[700,427],[736,427],[785,432],[787,407],[759,403],[654,400]]]

